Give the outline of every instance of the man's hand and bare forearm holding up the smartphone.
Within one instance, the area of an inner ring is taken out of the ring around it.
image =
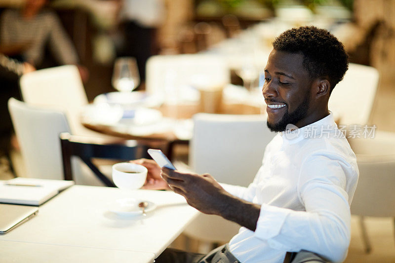
[[[160,174],[175,193],[204,214],[221,216],[255,231],[261,206],[228,193],[209,174],[182,173],[162,168]]]

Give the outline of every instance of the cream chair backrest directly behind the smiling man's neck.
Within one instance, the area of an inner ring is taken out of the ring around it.
[[[375,68],[350,63],[330,95],[329,110],[340,117],[340,124],[367,124],[378,84],[379,72]]]

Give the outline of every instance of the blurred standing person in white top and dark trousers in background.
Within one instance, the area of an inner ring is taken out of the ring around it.
[[[147,60],[154,55],[156,29],[165,18],[165,6],[162,0],[123,0],[119,16],[125,38],[120,55],[136,58],[143,81]]]

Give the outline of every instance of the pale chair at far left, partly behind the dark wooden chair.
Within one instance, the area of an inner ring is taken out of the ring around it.
[[[65,113],[27,105],[14,98],[9,99],[8,108],[27,177],[63,180],[59,134],[70,132]],[[81,170],[81,162],[77,159],[73,160],[73,174],[76,184],[103,186],[88,169]]]

